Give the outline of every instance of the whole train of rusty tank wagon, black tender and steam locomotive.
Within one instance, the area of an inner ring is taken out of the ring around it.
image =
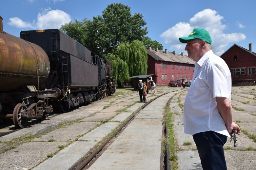
[[[111,63],[60,30],[20,37],[0,30],[0,119],[12,117],[24,128],[53,110],[64,113],[115,93]]]

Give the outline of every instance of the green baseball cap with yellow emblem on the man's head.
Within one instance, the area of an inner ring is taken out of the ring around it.
[[[201,28],[195,28],[193,31],[189,34],[188,37],[181,37],[179,38],[180,42],[187,43],[187,40],[190,39],[202,39],[205,40],[207,43],[211,44],[211,36],[205,29]]]

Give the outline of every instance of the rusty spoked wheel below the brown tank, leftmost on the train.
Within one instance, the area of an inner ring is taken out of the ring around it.
[[[13,123],[16,128],[25,128],[28,124],[27,120],[21,119],[21,113],[23,113],[28,107],[25,104],[17,104],[13,110]]]

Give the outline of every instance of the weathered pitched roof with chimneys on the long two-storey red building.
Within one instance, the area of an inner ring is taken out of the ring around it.
[[[195,61],[189,58],[187,55],[181,55],[181,54],[173,54],[171,52],[164,52],[162,50],[149,50],[146,49],[148,52],[148,55],[153,57],[157,61],[169,61],[169,62],[175,62],[175,63],[187,63],[187,64],[195,64]]]

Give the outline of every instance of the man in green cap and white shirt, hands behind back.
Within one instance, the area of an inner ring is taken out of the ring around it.
[[[223,145],[232,130],[240,128],[232,122],[231,74],[225,61],[213,54],[209,33],[195,28],[188,37],[188,57],[195,61],[195,70],[184,103],[184,132],[192,134],[205,170],[225,170]]]

